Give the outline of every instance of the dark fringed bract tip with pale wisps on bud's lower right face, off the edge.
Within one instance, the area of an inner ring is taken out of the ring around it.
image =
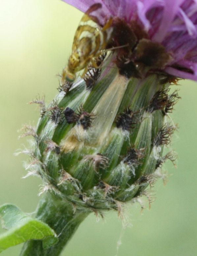
[[[128,165],[137,166],[142,164],[140,160],[143,159],[144,157],[144,149],[138,150],[132,147],[128,149],[127,156],[124,159],[124,163],[127,163]]]

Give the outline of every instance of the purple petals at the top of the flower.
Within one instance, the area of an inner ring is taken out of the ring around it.
[[[149,38],[162,44],[172,61],[164,71],[197,80],[197,0],[63,0],[82,12],[101,3],[97,17],[104,24],[110,17],[137,22]]]

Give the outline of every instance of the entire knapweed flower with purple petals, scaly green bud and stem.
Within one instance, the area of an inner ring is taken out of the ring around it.
[[[38,102],[34,134],[32,166],[48,190],[37,218],[55,230],[61,248],[90,212],[120,213],[122,203],[141,195],[151,201],[147,187],[164,177],[165,160],[175,161],[173,152],[163,155],[176,129],[168,113],[179,96],[170,85],[179,77],[197,78],[196,1],[90,2],[72,4],[86,12],[83,22],[91,17],[100,32],[84,23],[77,29],[72,51],[79,64],[69,60],[59,94],[47,108]],[[92,37],[83,37],[83,31]],[[68,68],[72,80],[75,71],[84,73],[71,83]],[[74,228],[60,232],[54,221],[60,215]],[[39,255],[61,251],[56,245],[43,251],[34,241],[21,255],[34,255],[29,248],[35,246]]]

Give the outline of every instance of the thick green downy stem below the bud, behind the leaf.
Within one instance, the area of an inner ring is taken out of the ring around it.
[[[36,218],[47,223],[56,232],[59,240],[47,249],[43,248],[41,240],[27,241],[20,256],[58,256],[90,212],[85,207],[75,208],[54,193],[47,192],[38,205]]]

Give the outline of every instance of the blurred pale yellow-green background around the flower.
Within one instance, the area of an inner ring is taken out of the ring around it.
[[[27,139],[18,140],[24,124],[35,124],[38,107],[27,102],[45,94],[49,103],[57,94],[55,76],[67,63],[75,29],[82,13],[60,0],[9,0],[0,4],[0,80],[1,80],[1,175],[0,204],[9,202],[25,212],[33,212],[38,197],[38,177],[26,174],[22,162],[27,156],[14,156]],[[102,256],[193,256],[197,253],[196,128],[197,84],[181,81],[181,100],[172,120],[179,124],[172,148],[178,153],[178,168],[166,163],[169,182],[158,181],[156,201],[141,213],[140,205],[128,205],[123,231],[116,212],[104,221],[90,215],[70,240],[64,255]],[[3,230],[0,230],[3,232]],[[117,252],[117,243],[121,242]],[[2,252],[17,256],[21,245]]]

